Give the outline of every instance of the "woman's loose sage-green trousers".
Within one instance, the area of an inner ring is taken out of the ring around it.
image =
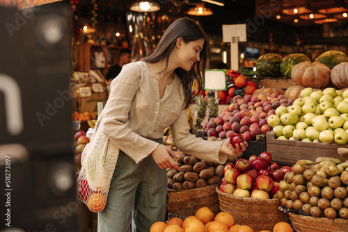
[[[163,140],[155,140],[163,144]],[[166,218],[166,169],[148,156],[138,165],[120,151],[106,207],[98,213],[98,232],[149,232]]]

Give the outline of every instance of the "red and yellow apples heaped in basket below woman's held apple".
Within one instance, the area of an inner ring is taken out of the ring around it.
[[[271,199],[285,173],[290,171],[290,166],[280,168],[272,162],[272,155],[264,151],[260,156],[239,158],[235,164],[225,165],[219,190],[239,197]]]

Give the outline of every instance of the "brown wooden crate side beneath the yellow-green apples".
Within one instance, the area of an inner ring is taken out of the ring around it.
[[[274,138],[274,132],[266,134],[267,151],[272,154],[274,162],[280,165],[294,165],[297,160],[312,160],[315,162],[317,157],[326,156],[332,158],[342,158],[337,154],[338,147],[348,145],[324,144],[317,142],[301,142],[293,140],[278,140]],[[344,160],[342,160],[344,162]]]

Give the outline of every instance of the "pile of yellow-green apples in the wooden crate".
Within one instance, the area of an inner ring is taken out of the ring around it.
[[[281,140],[347,144],[348,90],[304,88],[291,106],[279,106],[267,124]]]

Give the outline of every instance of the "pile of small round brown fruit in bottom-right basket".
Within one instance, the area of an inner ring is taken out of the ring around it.
[[[334,171],[334,172],[333,172]],[[328,157],[299,160],[275,196],[287,209],[313,217],[348,218],[348,161]]]

